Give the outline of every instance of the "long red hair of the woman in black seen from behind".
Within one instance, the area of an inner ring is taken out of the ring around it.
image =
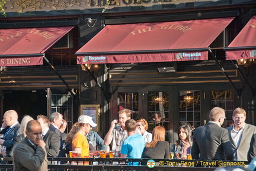
[[[158,141],[164,141],[164,140],[165,140],[165,128],[162,126],[157,126],[153,128],[152,141],[151,143],[146,143],[146,147],[155,147]]]

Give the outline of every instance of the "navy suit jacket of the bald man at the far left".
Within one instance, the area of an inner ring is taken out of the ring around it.
[[[16,124],[14,127],[11,128],[11,130],[5,135],[4,137],[4,146],[7,147],[7,157],[11,157],[9,153],[12,150],[13,144],[14,144],[14,138],[17,136],[17,131],[20,128],[20,124]],[[5,133],[6,134],[6,133]]]

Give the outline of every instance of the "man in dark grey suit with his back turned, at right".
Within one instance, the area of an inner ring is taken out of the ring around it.
[[[215,107],[210,111],[210,121],[194,131],[191,149],[193,159],[233,160],[228,130],[220,127],[225,120],[225,110]],[[199,157],[200,154],[200,157]]]

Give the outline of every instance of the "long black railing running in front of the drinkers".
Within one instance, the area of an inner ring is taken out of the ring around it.
[[[12,158],[1,158],[2,162],[11,162]],[[152,159],[121,159],[121,158],[66,158],[48,157],[48,169],[51,170],[172,170],[172,171],[203,171],[215,170],[219,166],[244,166],[249,162],[217,161],[217,160],[167,160]],[[139,165],[127,165],[129,162],[139,162]],[[60,164],[63,163],[63,164]],[[151,164],[147,166],[146,164]],[[152,167],[155,165],[154,167]],[[152,168],[151,168],[152,167]],[[13,164],[1,164],[1,170],[12,170]]]

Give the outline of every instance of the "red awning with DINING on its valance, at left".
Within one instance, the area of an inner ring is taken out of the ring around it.
[[[0,29],[0,66],[43,64],[43,53],[72,28]]]

